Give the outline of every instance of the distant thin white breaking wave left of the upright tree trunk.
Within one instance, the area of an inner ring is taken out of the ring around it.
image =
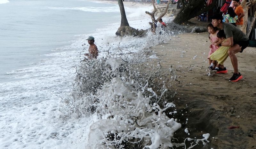
[[[84,12],[119,12],[119,7],[48,7],[54,10],[80,10]]]

